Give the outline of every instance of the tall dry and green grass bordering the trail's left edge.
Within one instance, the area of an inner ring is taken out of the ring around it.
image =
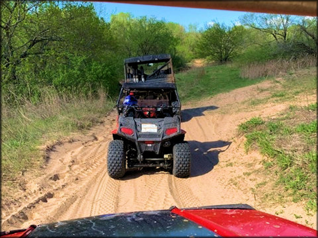
[[[21,102],[21,101],[20,101]],[[2,97],[1,169],[4,182],[17,181],[44,162],[40,146],[71,132],[88,129],[113,108],[114,101],[100,87],[97,95],[61,95],[54,88],[41,91],[37,103],[24,101],[14,107]]]

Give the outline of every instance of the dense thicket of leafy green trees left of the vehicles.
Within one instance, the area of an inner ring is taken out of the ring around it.
[[[91,3],[7,1],[1,13],[6,100],[36,101],[45,86],[85,93],[102,85],[115,92],[116,42]]]

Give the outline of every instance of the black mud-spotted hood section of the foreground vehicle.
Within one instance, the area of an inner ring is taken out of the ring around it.
[[[169,210],[119,213],[39,225],[28,237],[214,237]]]

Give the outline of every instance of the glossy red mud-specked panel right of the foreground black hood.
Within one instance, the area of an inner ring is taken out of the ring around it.
[[[249,209],[173,208],[171,212],[208,228],[221,236],[311,236],[317,231],[293,221]]]

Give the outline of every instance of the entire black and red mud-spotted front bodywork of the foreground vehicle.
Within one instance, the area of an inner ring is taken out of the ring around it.
[[[99,215],[31,226],[1,237],[316,237],[317,231],[246,204]]]

